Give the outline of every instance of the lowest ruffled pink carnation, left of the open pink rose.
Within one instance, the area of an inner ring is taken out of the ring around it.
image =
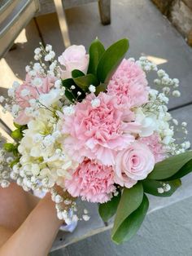
[[[71,171],[72,172],[72,171]],[[72,172],[72,179],[65,180],[65,188],[76,197],[93,203],[104,203],[111,199],[114,186],[114,171],[111,166],[103,166],[96,161],[85,159]]]

